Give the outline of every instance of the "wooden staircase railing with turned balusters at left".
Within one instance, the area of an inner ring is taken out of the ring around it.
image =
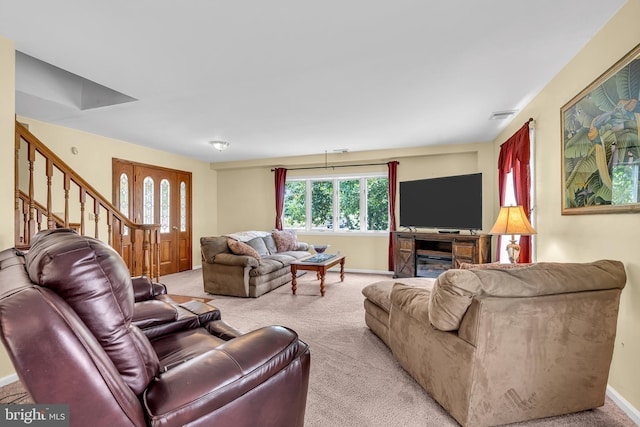
[[[15,246],[28,249],[43,225],[72,228],[106,241],[122,256],[132,276],[141,271],[159,280],[160,225],[129,220],[26,127],[18,121],[15,126]],[[77,202],[70,200],[71,193],[77,194]],[[90,212],[86,212],[87,202]],[[89,233],[88,224],[93,225]]]

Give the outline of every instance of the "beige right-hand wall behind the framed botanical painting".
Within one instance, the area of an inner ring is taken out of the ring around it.
[[[610,258],[624,262],[628,281],[622,292],[609,384],[635,408],[640,408],[640,216],[560,214],[560,108],[640,43],[638,17],[640,1],[629,1],[495,140],[494,152],[497,160],[499,144],[529,117],[535,119],[538,261]]]

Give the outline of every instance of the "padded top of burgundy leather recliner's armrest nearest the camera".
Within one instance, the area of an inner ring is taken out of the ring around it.
[[[241,398],[306,351],[290,329],[257,329],[158,375],[144,405],[152,420],[186,425]]]

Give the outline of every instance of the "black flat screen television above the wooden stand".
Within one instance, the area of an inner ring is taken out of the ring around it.
[[[482,174],[400,182],[400,226],[482,229]]]

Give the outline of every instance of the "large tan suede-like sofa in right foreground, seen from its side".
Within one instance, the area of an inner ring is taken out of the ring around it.
[[[604,404],[622,263],[460,269],[410,280],[420,286],[399,279],[365,287],[365,322],[463,426]]]

